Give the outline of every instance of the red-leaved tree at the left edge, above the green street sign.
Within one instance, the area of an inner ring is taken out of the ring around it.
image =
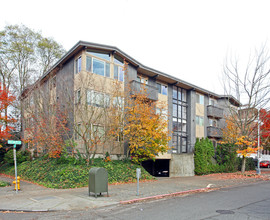
[[[6,115],[7,109],[11,106],[15,97],[10,94],[10,92],[0,84],[0,140],[9,139],[12,134],[11,131],[14,129],[12,124],[15,119]]]

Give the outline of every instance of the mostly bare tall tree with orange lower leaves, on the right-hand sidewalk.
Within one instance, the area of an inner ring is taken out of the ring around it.
[[[238,60],[227,60],[223,68],[224,92],[244,103],[240,109],[227,106],[227,124],[232,125],[238,139],[253,143],[257,138],[257,118],[261,108],[270,100],[269,55],[265,47],[255,51],[245,66]],[[230,98],[229,98],[230,101]],[[229,103],[229,102],[228,102]],[[235,137],[234,137],[235,139]],[[239,141],[239,140],[238,140]],[[239,144],[242,152],[249,151],[248,144]],[[245,153],[243,153],[242,172],[245,171]]]

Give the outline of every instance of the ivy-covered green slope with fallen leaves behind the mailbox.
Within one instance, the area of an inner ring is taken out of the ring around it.
[[[141,180],[154,179],[142,167],[129,160],[104,162],[102,159],[95,159],[91,166],[87,166],[75,160],[63,162],[57,159],[39,158],[19,164],[18,176],[48,188],[77,188],[88,186],[91,167],[104,167],[108,171],[109,183],[135,182],[136,168],[142,169]],[[0,173],[14,175],[14,166],[4,164],[0,167]]]

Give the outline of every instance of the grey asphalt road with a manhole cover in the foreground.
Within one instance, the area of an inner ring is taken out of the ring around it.
[[[0,213],[0,219],[269,219],[270,182],[76,212]]]

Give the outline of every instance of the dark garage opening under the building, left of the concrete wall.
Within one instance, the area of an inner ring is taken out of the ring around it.
[[[157,159],[147,160],[142,162],[143,168],[152,176],[170,176],[170,160],[169,159]]]

